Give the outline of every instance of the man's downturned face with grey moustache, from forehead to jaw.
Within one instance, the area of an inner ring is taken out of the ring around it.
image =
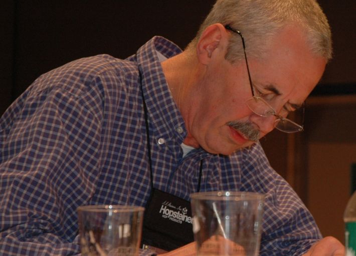
[[[266,58],[247,58],[252,84],[281,116],[302,105],[320,80],[326,61],[308,50],[293,28],[283,30]],[[218,59],[208,65],[200,81],[202,103],[197,104],[188,126],[189,136],[211,153],[231,154],[272,131],[274,116],[261,117],[246,105],[252,97],[246,63]]]

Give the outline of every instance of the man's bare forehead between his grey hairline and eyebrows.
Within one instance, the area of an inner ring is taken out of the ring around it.
[[[311,53],[301,29],[290,26],[271,40],[263,59],[250,63],[254,84],[301,104],[320,80],[326,60]]]

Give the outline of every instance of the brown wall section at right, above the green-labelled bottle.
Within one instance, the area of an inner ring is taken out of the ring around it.
[[[308,206],[322,234],[343,241],[343,211],[356,163],[356,96],[314,97],[308,105]]]

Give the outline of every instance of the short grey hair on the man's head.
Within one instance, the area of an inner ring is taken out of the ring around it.
[[[217,0],[188,49],[195,48],[203,31],[215,23],[239,30],[251,57],[261,58],[273,36],[291,24],[303,29],[312,53],[326,60],[332,56],[330,27],[315,0]],[[230,37],[225,57],[230,62],[243,58],[238,35]]]

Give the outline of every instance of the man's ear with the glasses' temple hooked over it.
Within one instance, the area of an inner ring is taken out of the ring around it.
[[[225,27],[220,24],[210,25],[204,30],[197,44],[197,56],[200,63],[207,65],[214,57],[227,50],[228,34]]]

